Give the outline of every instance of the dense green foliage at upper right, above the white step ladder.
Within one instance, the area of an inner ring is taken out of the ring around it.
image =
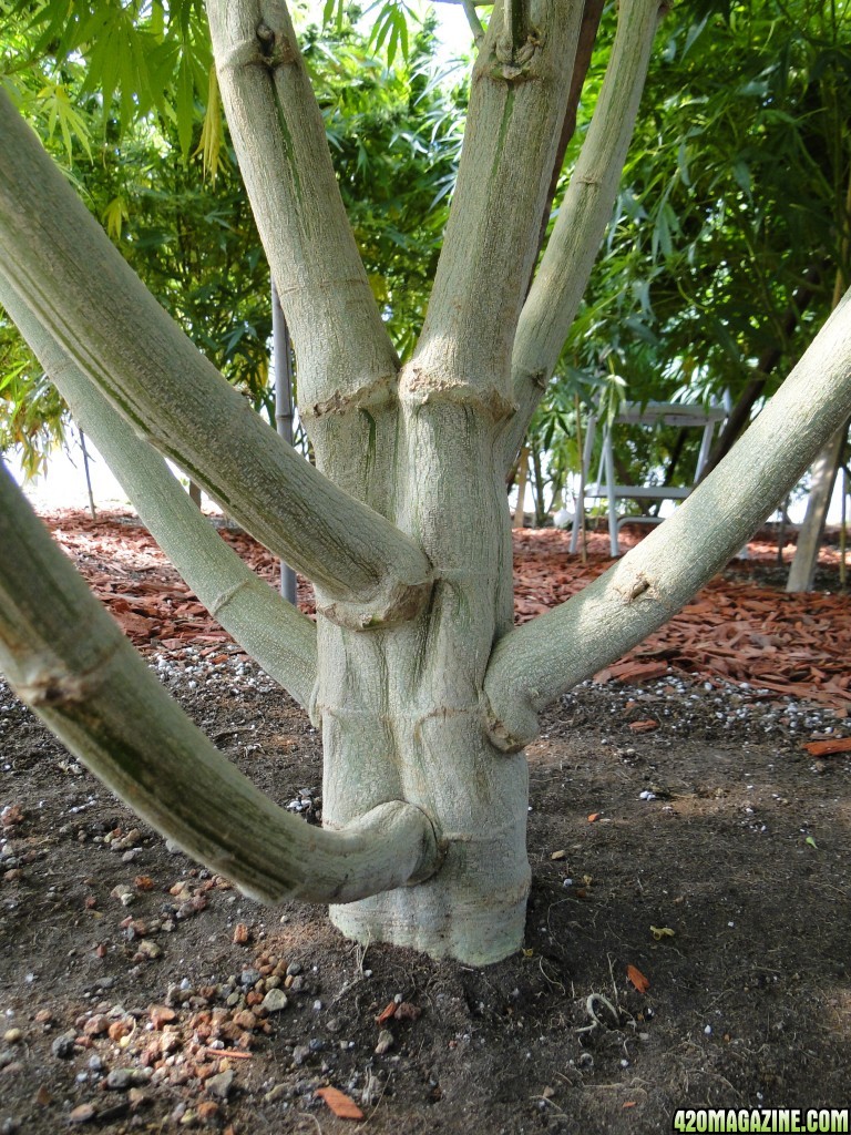
[[[787,373],[837,279],[851,280],[849,26],[843,0],[674,7],[563,380],[572,367],[621,376],[632,401],[708,402],[724,390],[735,401],[768,352],[766,394]],[[605,62],[604,51],[590,93]],[[821,283],[790,330],[814,268]],[[637,435],[622,454],[631,477],[650,478],[675,443],[671,431],[649,446]],[[689,446],[681,468],[693,470]]]

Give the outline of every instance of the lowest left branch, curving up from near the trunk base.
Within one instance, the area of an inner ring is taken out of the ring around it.
[[[348,902],[439,866],[426,814],[382,804],[310,827],[208,741],[89,592],[0,470],[0,665],[12,689],[113,792],[266,902]]]

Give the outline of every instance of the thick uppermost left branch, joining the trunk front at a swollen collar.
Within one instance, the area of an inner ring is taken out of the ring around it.
[[[419,548],[303,461],[160,308],[0,94],[0,263],[110,403],[271,552],[329,616],[407,619],[429,592]]]

